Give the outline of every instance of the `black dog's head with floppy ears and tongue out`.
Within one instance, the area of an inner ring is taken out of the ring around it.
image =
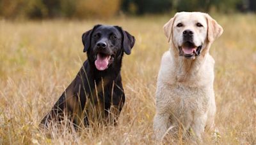
[[[129,55],[135,39],[121,27],[95,25],[82,36],[84,52],[88,60],[94,62],[99,71],[108,69],[116,61],[120,62],[124,52]]]

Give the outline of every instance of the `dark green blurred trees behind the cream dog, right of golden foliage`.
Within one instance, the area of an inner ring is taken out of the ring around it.
[[[221,13],[232,13],[255,11],[255,3],[256,0],[124,0],[122,10],[132,14],[163,13],[170,10],[204,12],[216,10]]]

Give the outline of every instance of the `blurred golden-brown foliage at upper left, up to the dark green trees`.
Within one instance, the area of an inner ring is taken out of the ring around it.
[[[120,9],[121,0],[0,0],[4,18],[109,18]]]

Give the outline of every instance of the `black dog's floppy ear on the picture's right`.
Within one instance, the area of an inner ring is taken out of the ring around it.
[[[121,32],[121,34],[123,36],[122,46],[124,48],[124,52],[127,55],[131,54],[131,49],[132,49],[132,47],[134,46],[134,43],[135,43],[134,36],[129,34],[129,32],[124,31],[122,29],[122,27],[119,27],[119,26],[115,26],[115,27],[118,28],[118,30]]]

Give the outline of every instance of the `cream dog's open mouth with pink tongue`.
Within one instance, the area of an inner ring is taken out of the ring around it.
[[[195,59],[196,56],[199,56],[202,50],[202,45],[196,46],[194,43],[189,41],[179,46],[179,55],[184,56],[186,59]]]

